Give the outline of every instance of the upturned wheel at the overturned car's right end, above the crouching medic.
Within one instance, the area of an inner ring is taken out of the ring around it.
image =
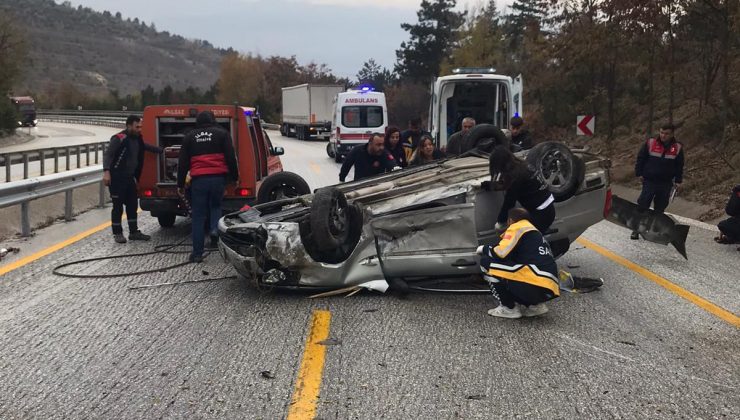
[[[586,175],[583,161],[563,143],[540,143],[527,152],[526,160],[557,202],[572,197]]]

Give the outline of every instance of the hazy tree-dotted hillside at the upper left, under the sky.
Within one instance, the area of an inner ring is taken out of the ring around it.
[[[26,39],[17,91],[113,90],[125,96],[147,85],[207,90],[226,53],[207,41],[159,32],[154,23],[69,2],[0,0],[0,11],[13,17],[15,30]]]

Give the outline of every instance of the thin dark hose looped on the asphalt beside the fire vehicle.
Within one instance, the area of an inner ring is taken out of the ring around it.
[[[114,273],[114,274],[73,274],[73,273],[65,273],[61,270],[65,267],[89,264],[95,261],[106,261],[106,260],[114,260],[114,259],[119,259],[119,258],[144,257],[148,255],[155,255],[155,254],[188,254],[190,251],[173,251],[173,249],[185,247],[185,246],[192,246],[191,243],[185,243],[185,241],[188,240],[189,238],[190,236],[188,235],[185,238],[183,238],[180,242],[177,242],[174,244],[157,245],[154,247],[154,251],[149,251],[149,252],[138,252],[135,254],[123,254],[123,255],[108,255],[105,257],[85,258],[81,260],[70,261],[70,262],[60,264],[54,267],[54,269],[52,270],[52,273],[57,276],[75,278],[75,279],[100,279],[100,278],[110,279],[110,278],[118,278],[118,277],[132,277],[132,276],[138,276],[142,274],[164,273],[174,268],[183,267],[185,265],[191,264],[191,262],[184,261],[184,262],[180,262],[177,264],[172,264],[172,265],[168,265],[164,267],[153,268],[150,270],[130,271],[130,272]],[[210,255],[211,251],[215,249],[216,248],[206,247],[205,248],[206,253],[203,255],[203,257],[204,258],[207,257],[208,255]],[[142,286],[132,286],[132,287],[129,287],[129,290],[148,289],[148,288],[160,287],[160,286],[174,286],[178,284],[199,283],[199,282],[214,281],[214,280],[227,280],[227,279],[233,279],[233,278],[236,278],[236,276],[210,277],[210,278],[199,279],[199,280],[185,280],[181,282],[147,284],[147,285],[142,285]]]

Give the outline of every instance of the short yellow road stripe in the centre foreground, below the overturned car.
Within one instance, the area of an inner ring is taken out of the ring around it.
[[[288,420],[304,420],[316,417],[316,406],[321,390],[321,375],[324,371],[326,346],[319,344],[329,337],[329,311],[314,311],[311,317],[311,329],[306,338],[301,368],[290,401]]]

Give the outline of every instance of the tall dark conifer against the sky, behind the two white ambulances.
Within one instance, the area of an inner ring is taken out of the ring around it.
[[[401,24],[410,35],[396,50],[395,72],[402,78],[427,82],[439,74],[442,62],[455,46],[464,12],[454,11],[457,0],[423,0],[415,25]]]

